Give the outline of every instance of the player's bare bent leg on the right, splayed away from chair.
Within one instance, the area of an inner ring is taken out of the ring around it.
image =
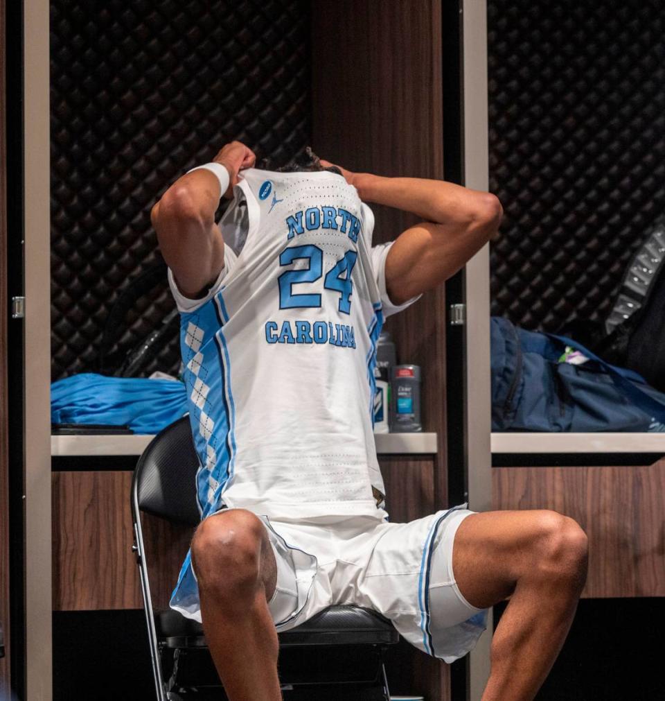
[[[556,512],[495,511],[466,517],[452,568],[472,606],[510,597],[491,646],[483,701],[533,699],[573,621],[587,575],[587,536]]]

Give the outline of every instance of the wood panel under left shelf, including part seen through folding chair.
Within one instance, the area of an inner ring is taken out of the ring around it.
[[[127,471],[53,473],[53,607],[141,608]],[[153,605],[168,608],[193,529],[144,515]]]

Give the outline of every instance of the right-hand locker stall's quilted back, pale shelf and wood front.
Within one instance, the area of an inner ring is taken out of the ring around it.
[[[527,27],[519,8],[488,2],[489,176],[505,210],[491,313],[529,330],[570,335],[576,322],[603,336],[624,270],[665,211],[656,107],[665,90],[654,70],[664,72],[652,63],[664,48],[662,10],[571,5],[555,19],[537,6]],[[633,61],[606,64],[637,41]],[[507,70],[518,55],[521,70]],[[605,129],[619,112],[620,128]],[[552,508],[587,531],[584,597],[663,595],[662,434],[496,433],[492,452],[495,508]]]

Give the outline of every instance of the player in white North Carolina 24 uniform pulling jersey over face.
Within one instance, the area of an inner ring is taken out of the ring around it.
[[[171,606],[202,620],[232,701],[278,701],[277,631],[331,604],[373,608],[450,662],[510,597],[483,699],[532,699],[584,585],[584,532],[554,512],[465,505],[389,522],[372,430],[384,318],[458,271],[496,233],[500,203],[307,156],[265,170],[232,142],[151,212],[201,463],[202,522]],[[367,202],[422,221],[372,246]]]

